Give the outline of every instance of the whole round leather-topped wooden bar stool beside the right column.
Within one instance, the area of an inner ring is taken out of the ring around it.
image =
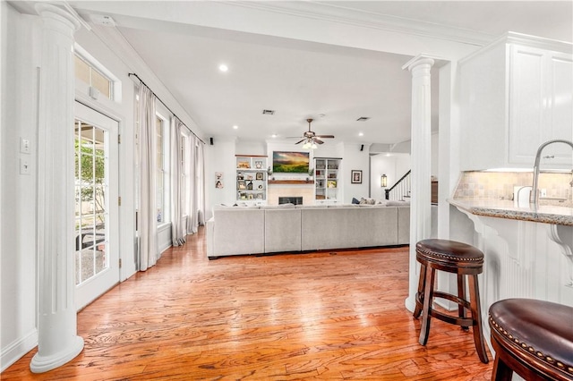
[[[483,271],[483,252],[462,242],[423,240],[415,245],[415,257],[422,265],[414,310],[414,318],[419,318],[422,315],[419,342],[422,345],[428,342],[431,317],[461,326],[464,330],[468,330],[472,326],[477,355],[483,363],[487,363],[487,353],[482,334],[480,291],[477,283],[477,275]],[[436,270],[458,275],[458,296],[433,290]],[[466,298],[466,276],[469,281],[469,301]],[[433,309],[434,298],[458,303],[458,317]],[[470,311],[469,317],[466,315],[466,309]]]

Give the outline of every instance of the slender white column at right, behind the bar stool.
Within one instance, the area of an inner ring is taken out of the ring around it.
[[[419,269],[415,260],[415,244],[430,237],[432,229],[431,208],[431,158],[432,112],[431,70],[434,61],[422,55],[406,63],[402,69],[412,73],[412,198],[410,199],[410,270],[409,295],[406,309],[414,311]]]

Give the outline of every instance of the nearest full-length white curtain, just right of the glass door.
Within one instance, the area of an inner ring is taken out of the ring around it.
[[[145,271],[157,262],[158,221],[156,200],[156,116],[153,92],[141,85],[140,109],[140,250],[139,269]]]

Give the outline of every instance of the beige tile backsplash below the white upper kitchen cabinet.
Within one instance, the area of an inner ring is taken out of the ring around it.
[[[513,199],[514,186],[531,186],[531,172],[479,172],[461,174],[454,199]],[[540,204],[572,207],[572,174],[540,174],[539,189],[546,190],[548,199]]]

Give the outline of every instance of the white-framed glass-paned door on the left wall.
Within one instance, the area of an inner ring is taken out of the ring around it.
[[[75,307],[119,283],[118,123],[75,103]]]

